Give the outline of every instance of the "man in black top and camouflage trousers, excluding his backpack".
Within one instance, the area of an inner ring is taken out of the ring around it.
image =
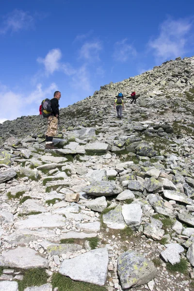
[[[48,117],[48,129],[46,133],[46,146],[45,149],[54,149],[52,142],[53,136],[57,133],[58,119],[59,119],[59,99],[61,98],[61,92],[56,91],[54,98],[50,100],[52,113]]]

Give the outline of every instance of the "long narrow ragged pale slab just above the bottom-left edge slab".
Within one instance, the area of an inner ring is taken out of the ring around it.
[[[33,242],[38,239],[48,239],[51,242],[59,241],[59,236],[56,235],[56,232],[50,229],[17,229],[15,232],[9,236],[4,236],[3,240],[10,244],[16,243],[17,245],[24,245],[28,242]]]

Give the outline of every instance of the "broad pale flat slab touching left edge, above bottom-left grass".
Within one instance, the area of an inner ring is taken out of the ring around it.
[[[8,252],[2,252],[0,266],[21,269],[48,268],[49,262],[35,250],[18,246]]]

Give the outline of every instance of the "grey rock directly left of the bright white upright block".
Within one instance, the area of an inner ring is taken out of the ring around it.
[[[103,222],[113,229],[124,229],[127,227],[122,215],[121,206],[118,205],[115,209],[110,210],[108,213],[103,214]]]

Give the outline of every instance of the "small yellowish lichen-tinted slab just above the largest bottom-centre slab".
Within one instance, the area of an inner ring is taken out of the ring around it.
[[[68,252],[74,253],[80,251],[82,246],[75,243],[61,243],[61,244],[51,244],[47,247],[47,253],[50,256],[62,256]]]

